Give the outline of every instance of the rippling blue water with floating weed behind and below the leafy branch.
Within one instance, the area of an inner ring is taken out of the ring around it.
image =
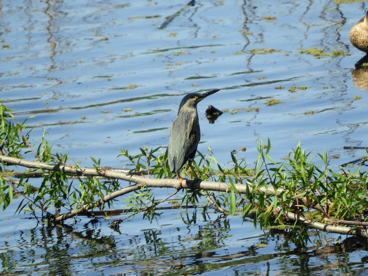
[[[27,122],[35,127],[31,143],[46,130],[53,150],[69,153],[71,163],[91,166],[92,156],[103,166],[120,167],[125,159],[117,158],[119,148],[137,154],[143,146],[166,147],[181,98],[217,88],[222,90],[198,105],[198,150],[206,153],[210,144],[220,164],[237,150],[237,158],[252,167],[260,137],[270,138],[275,160],[286,157],[299,139],[307,152],[326,149],[339,157],[330,161],[333,169],[364,154],[342,147],[367,146],[368,83],[365,72],[353,78],[364,53],[348,40],[365,3],[205,0],[187,7],[183,1],[15,0],[0,5],[0,98],[19,122],[35,115]],[[317,59],[299,53],[309,47],[350,55]],[[255,48],[280,51],[248,51]],[[279,85],[284,88],[275,89]],[[291,93],[293,85],[311,87]],[[266,98],[284,103],[266,106]],[[209,124],[208,105],[229,111]],[[260,110],[230,112],[249,107]],[[170,191],[155,193],[161,199]],[[182,219],[183,210],[165,210],[152,224],[135,217],[119,233],[108,227],[114,218],[93,224],[81,217],[74,228],[47,228],[28,214],[13,216],[17,206],[15,201],[0,214],[3,275],[354,275],[364,271],[367,260],[365,250],[334,251],[338,236],[322,233],[306,253],[294,252],[283,236],[255,231],[252,222],[241,223],[237,216],[213,223],[218,215],[212,210],[207,221],[199,210],[201,219],[191,225]],[[265,248],[256,246],[263,242]],[[315,251],[322,248],[328,253]]]

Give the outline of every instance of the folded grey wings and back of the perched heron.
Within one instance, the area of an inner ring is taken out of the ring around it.
[[[179,171],[197,150],[200,133],[198,118],[190,112],[176,117],[169,135],[169,164],[172,172]]]

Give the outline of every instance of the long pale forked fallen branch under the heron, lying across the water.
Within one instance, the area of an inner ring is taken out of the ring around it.
[[[8,157],[4,155],[0,155],[0,160],[6,165],[18,165],[18,166],[24,166],[27,168],[36,168],[36,169],[42,169],[42,170],[47,170],[47,171],[59,171],[59,172],[74,174],[77,176],[99,176],[99,177],[105,177],[109,179],[120,179],[120,180],[125,180],[131,183],[135,183],[135,185],[124,187],[123,189],[114,191],[102,197],[100,200],[93,201],[89,204],[84,204],[78,209],[71,210],[70,212],[58,215],[54,217],[55,222],[63,222],[64,220],[68,218],[75,217],[78,214],[83,214],[84,212],[91,210],[93,208],[99,207],[105,204],[106,202],[113,200],[114,198],[117,198],[124,194],[131,193],[132,191],[135,191],[135,190],[139,190],[141,189],[141,187],[149,187],[149,188],[166,187],[166,188],[176,189],[177,191],[180,189],[221,191],[221,192],[227,192],[227,193],[231,191],[230,184],[222,183],[222,182],[211,182],[211,181],[203,181],[203,180],[194,181],[194,180],[183,179],[183,181],[180,183],[178,179],[154,179],[154,178],[147,178],[144,176],[138,176],[138,175],[134,175],[134,174],[126,173],[126,172],[118,172],[116,170],[110,170],[110,169],[104,169],[104,168],[75,168],[75,167],[68,166],[68,165],[47,164],[47,163],[38,162],[38,161],[27,161],[24,159]],[[246,194],[247,192],[254,193],[255,191],[259,191],[268,196],[280,196],[280,194],[284,191],[284,189],[275,190],[272,186],[263,186],[257,189],[252,189],[251,187],[249,187],[248,184],[233,184],[233,187],[236,188],[237,193],[239,194]],[[176,192],[174,192],[174,194],[176,194]],[[326,208],[328,208],[328,206],[321,205],[318,202],[308,203],[307,197],[298,197],[298,200],[303,202],[306,208],[315,208],[323,212],[326,210]],[[148,208],[151,208],[151,207],[148,207]],[[282,207],[277,207],[275,209],[275,212],[281,212],[282,210],[283,210]],[[314,222],[314,221],[308,220],[304,218],[303,216],[296,214],[294,212],[291,212],[291,211],[283,211],[283,215],[289,218],[291,221],[297,221],[299,223],[307,225],[308,227],[323,230],[325,232],[350,234],[354,236],[368,237],[367,231],[359,227],[351,228],[351,227],[346,227],[346,226],[334,226],[334,225],[329,225],[325,223]],[[350,225],[366,225],[363,223],[358,224],[358,222],[350,222],[350,221],[337,221],[337,222],[344,223],[344,224],[350,224]]]

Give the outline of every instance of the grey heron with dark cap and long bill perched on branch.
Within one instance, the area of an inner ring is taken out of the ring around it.
[[[191,164],[197,151],[201,130],[199,129],[197,104],[205,97],[216,93],[220,89],[211,90],[206,93],[191,93],[184,96],[181,100],[176,119],[171,124],[169,135],[169,164],[171,172],[176,173],[178,179],[179,171],[184,164],[189,161],[189,166],[194,174],[194,180],[199,180],[197,173]]]

